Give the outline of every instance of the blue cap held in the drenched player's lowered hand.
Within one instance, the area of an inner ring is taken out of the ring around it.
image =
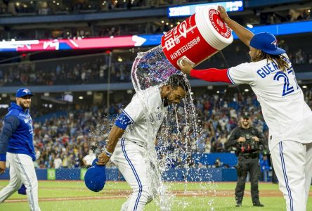
[[[93,160],[92,166],[84,174],[84,184],[91,191],[102,191],[106,182],[105,165],[96,165],[98,158]]]

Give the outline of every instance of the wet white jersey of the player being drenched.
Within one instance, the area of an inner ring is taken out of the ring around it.
[[[129,105],[124,108],[124,113],[130,118],[132,124],[126,127],[122,138],[145,146],[148,137],[151,135],[151,137],[156,137],[166,113],[160,96],[160,88],[150,87],[135,94]],[[149,124],[146,124],[145,118],[148,114],[152,119],[150,120],[152,128],[148,128]]]

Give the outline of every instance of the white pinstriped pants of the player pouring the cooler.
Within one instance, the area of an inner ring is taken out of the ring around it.
[[[312,179],[312,143],[282,141],[271,151],[287,211],[306,211]]]

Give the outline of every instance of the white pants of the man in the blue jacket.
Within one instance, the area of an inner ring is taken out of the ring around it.
[[[18,191],[20,186],[24,184],[30,210],[40,211],[38,204],[38,180],[32,158],[25,154],[6,153],[6,162],[10,164],[10,181],[0,191],[0,203],[3,203],[4,200]]]

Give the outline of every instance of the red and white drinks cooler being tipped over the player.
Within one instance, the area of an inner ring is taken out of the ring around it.
[[[232,41],[232,32],[216,7],[204,7],[164,34],[161,44],[166,58],[178,68],[182,58],[198,65]]]

